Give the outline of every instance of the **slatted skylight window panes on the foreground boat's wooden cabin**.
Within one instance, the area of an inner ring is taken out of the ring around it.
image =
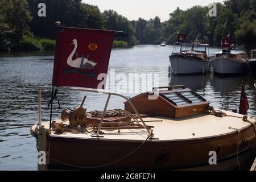
[[[166,96],[171,102],[173,102],[177,106],[206,102],[203,97],[199,96],[199,94],[193,91],[166,93],[164,94],[164,96]]]

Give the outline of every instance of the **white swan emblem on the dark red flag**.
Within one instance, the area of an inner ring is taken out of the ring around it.
[[[87,55],[86,57],[84,57],[84,55],[81,55],[81,57],[77,57],[76,50],[77,50],[78,43],[77,43],[76,39],[72,40],[71,46],[72,45],[75,45],[75,47],[74,47],[73,51],[71,52],[71,54],[68,56],[68,60],[67,60],[67,63],[70,67],[72,67],[72,68],[81,68],[81,69],[89,69],[89,70],[96,67],[96,65],[98,63],[96,63],[95,61],[90,59],[90,55]],[[73,56],[75,54],[76,54],[76,59],[73,60]]]

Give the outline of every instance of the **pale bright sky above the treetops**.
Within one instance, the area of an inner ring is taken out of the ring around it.
[[[187,10],[192,6],[208,6],[213,2],[224,0],[82,0],[84,3],[95,5],[104,10],[115,10],[118,14],[126,16],[129,20],[144,18],[149,20],[159,16],[161,21],[169,19],[169,14],[180,7]]]

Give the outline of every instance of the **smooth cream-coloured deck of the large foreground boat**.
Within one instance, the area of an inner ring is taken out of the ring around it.
[[[215,117],[214,115],[204,114],[196,117],[188,117],[184,119],[168,119],[160,117],[143,118],[147,126],[154,126],[154,137],[161,141],[165,140],[184,140],[212,138],[220,135],[232,134],[237,131],[234,129],[245,129],[251,126],[250,123],[244,122],[242,115],[225,111],[229,117]],[[232,117],[234,116],[234,117]],[[256,122],[255,119],[250,121]],[[49,128],[49,122],[43,122],[45,128]],[[32,127],[32,130],[35,130]],[[234,129],[230,129],[232,127]],[[101,130],[104,134],[104,140],[145,140],[148,137],[146,129],[125,129],[118,133],[118,130]],[[86,138],[92,139],[92,134],[80,133],[77,131],[63,134],[51,133],[51,137],[64,138]],[[95,139],[95,138],[94,138]]]

